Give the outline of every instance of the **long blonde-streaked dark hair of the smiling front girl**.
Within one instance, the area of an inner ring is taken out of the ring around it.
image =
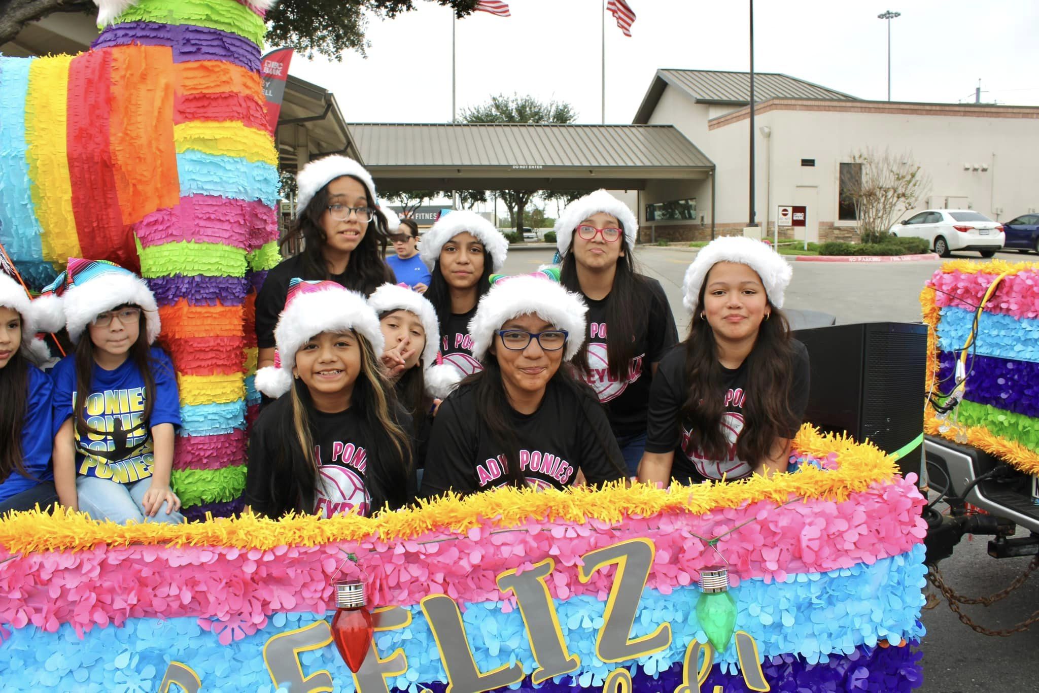
[[[383,506],[397,509],[409,500],[406,489],[412,461],[408,437],[392,416],[398,406],[397,400],[393,387],[379,371],[371,344],[359,335],[356,338],[361,347],[361,374],[353,384],[350,408],[356,407],[372,436],[371,449],[367,451],[365,486],[372,499],[372,511]],[[268,498],[271,499],[268,514],[272,516],[290,510],[311,514],[318,484],[320,460],[314,455],[317,431],[311,415],[314,403],[302,380],[294,381],[288,404],[290,416],[273,420],[273,439],[284,441],[284,445],[277,448],[275,473],[268,480]]]

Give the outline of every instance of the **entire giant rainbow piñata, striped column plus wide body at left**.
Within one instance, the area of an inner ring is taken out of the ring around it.
[[[234,0],[137,0],[86,53],[0,57],[0,242],[36,289],[70,257],[148,279],[181,394],[172,484],[194,518],[244,488],[254,299],[279,261],[263,34]]]

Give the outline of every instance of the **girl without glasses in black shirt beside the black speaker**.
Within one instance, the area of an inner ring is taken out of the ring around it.
[[[639,480],[785,472],[808,398],[808,354],[780,309],[792,270],[760,241],[709,243],[686,270],[686,341],[661,361]]]

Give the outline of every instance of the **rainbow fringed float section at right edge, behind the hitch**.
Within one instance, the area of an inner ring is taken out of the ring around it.
[[[958,362],[966,374],[956,409],[939,416],[928,406],[927,432],[1039,475],[1039,264],[947,262],[921,303],[930,325],[928,382],[949,395]]]

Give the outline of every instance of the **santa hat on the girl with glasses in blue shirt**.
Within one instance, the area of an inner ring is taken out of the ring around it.
[[[62,278],[63,282],[58,284]],[[149,344],[155,342],[162,327],[155,295],[144,279],[107,260],[69,258],[63,277],[55,279],[45,293],[37,299],[43,302],[42,312],[52,312],[55,304],[53,301],[59,300],[64,314],[64,326],[74,344],[79,342],[91,320],[118,305],[136,305],[144,312]],[[45,326],[50,331],[59,328],[60,325],[55,327],[53,323]]]

